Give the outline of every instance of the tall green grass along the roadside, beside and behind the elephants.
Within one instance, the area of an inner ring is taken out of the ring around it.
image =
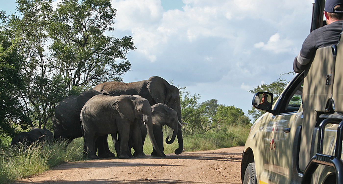
[[[213,150],[225,147],[242,146],[247,139],[247,126],[231,126],[221,132],[207,132],[202,135],[184,136],[185,151]],[[166,137],[166,136],[165,136]],[[164,139],[165,139],[164,137]],[[110,151],[116,154],[111,136],[108,136]],[[61,162],[84,160],[83,138],[74,139],[64,149],[66,142],[55,144],[32,145],[23,148],[0,147],[0,183],[11,183],[17,179],[29,177],[49,170]],[[168,145],[164,141],[164,153],[174,153],[178,148],[177,138]],[[149,137],[146,137],[143,151],[146,155],[152,152]],[[133,150],[132,150],[133,152]]]

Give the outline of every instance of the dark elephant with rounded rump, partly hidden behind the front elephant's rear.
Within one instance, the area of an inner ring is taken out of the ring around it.
[[[52,117],[52,124],[54,127],[55,139],[67,139],[68,144],[75,138],[83,136],[83,130],[81,128],[80,113],[83,105],[95,95],[107,94],[106,91],[96,91],[88,89],[83,91],[79,96],[69,96],[64,98],[58,103],[55,109],[55,114]],[[100,141],[98,155],[101,158],[114,157],[115,155],[109,151],[107,144],[107,136],[100,139],[106,139]],[[86,147],[84,146],[86,152]]]

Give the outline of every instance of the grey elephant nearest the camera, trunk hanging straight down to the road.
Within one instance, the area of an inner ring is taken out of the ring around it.
[[[158,156],[162,156],[153,136],[151,113],[151,106],[145,98],[131,95],[92,97],[81,110],[81,124],[88,158],[98,158],[95,155],[95,140],[98,136],[114,135],[117,132],[120,134],[119,158],[130,158],[127,155],[129,139],[134,142],[133,148],[137,156],[145,157],[139,120],[143,120],[153,147],[157,150]]]

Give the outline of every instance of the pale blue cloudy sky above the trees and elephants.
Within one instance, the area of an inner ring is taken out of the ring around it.
[[[314,0],[112,0],[109,35],[132,36],[131,71],[124,82],[161,76],[246,114],[248,90],[280,77],[310,32]],[[15,12],[15,1],[0,9]]]

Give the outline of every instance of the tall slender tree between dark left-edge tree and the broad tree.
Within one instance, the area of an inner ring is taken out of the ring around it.
[[[15,45],[23,57],[22,75],[25,88],[20,98],[24,113],[30,118],[30,125],[46,127],[53,109],[66,95],[66,87],[59,77],[51,77],[51,60],[48,51],[47,28],[50,24],[51,0],[17,0],[20,15],[12,14],[8,29]]]

